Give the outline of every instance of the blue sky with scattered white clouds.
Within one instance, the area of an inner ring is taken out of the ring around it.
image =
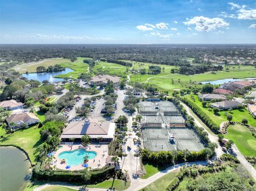
[[[0,0],[0,43],[256,43],[256,1]]]

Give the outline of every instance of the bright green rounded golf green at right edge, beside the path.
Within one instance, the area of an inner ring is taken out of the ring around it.
[[[256,156],[256,138],[251,131],[241,124],[234,124],[228,127],[228,134],[225,138],[233,140],[238,150],[245,156]]]

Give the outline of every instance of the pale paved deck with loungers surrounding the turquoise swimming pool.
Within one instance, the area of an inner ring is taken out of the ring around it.
[[[100,145],[100,147],[98,147]],[[81,144],[73,144],[73,145],[65,145],[61,144],[61,148],[59,148],[56,153],[53,155],[55,157],[54,160],[57,160],[56,163],[52,164],[52,167],[56,165],[57,169],[63,169],[67,170],[66,166],[68,165],[67,163],[61,164],[61,159],[59,159],[59,154],[64,151],[74,151],[78,148],[81,148]],[[91,148],[91,149],[90,149]],[[94,151],[97,153],[97,156],[94,159],[90,159],[87,164],[89,167],[92,169],[95,168],[102,168],[105,166],[106,158],[108,156],[108,144],[107,143],[91,143],[89,146],[86,147],[86,151]],[[103,151],[105,151],[105,155],[103,155]],[[100,161],[100,162],[99,162]],[[68,170],[83,170],[84,167],[82,167],[82,163],[76,166],[71,166],[70,169]]]

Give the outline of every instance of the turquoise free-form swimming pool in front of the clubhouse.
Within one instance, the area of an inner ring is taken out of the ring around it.
[[[84,162],[84,156],[88,155],[88,160],[94,159],[97,153],[94,151],[86,151],[84,149],[77,149],[74,151],[64,151],[59,154],[59,159],[65,159],[70,166],[76,166]]]

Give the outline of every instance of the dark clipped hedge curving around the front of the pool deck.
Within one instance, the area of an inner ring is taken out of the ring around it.
[[[47,180],[47,181],[65,181],[65,182],[84,182],[82,175],[84,170],[49,170],[44,169],[43,164],[38,162],[33,170],[34,180]],[[103,167],[101,169],[93,169],[90,171],[91,179],[87,183],[97,184],[97,182],[102,182],[109,179],[115,175],[114,166]]]

